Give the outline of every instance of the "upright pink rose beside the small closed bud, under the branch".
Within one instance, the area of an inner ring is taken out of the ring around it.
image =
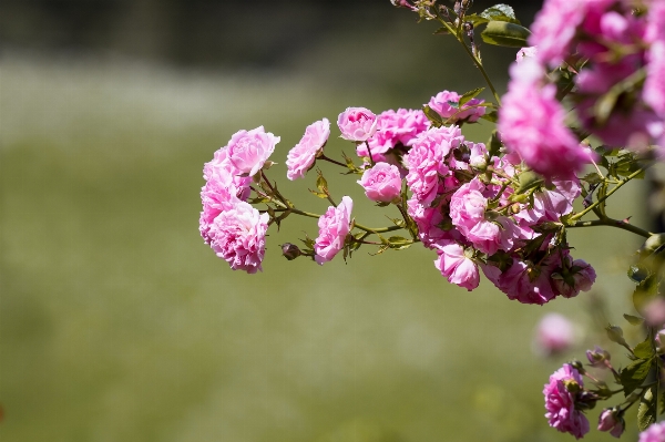
[[[318,264],[323,265],[335,258],[335,255],[344,248],[350,230],[352,208],[354,202],[345,196],[337,207],[328,207],[328,210],[319,218],[319,236],[314,244],[316,253],[314,259]]]

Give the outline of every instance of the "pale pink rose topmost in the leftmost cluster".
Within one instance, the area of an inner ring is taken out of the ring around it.
[[[228,161],[235,175],[254,176],[273,154],[279,140],[279,136],[266,133],[263,126],[236,132],[228,142]]]

